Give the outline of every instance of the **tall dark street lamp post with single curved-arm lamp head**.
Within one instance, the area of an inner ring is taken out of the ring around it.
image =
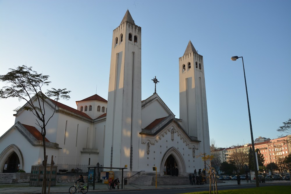
[[[244,69],[244,58],[243,57],[233,56],[233,57],[231,57],[231,60],[237,60],[238,58],[242,58],[242,67]],[[244,83],[246,85],[246,73],[245,72],[244,72]],[[259,186],[258,169],[257,169],[257,163],[256,163],[256,157],[255,157],[255,144],[254,144],[254,140],[253,140],[253,129],[252,129],[251,112],[250,112],[249,96],[248,96],[247,87],[246,87],[246,100],[248,101],[248,110],[249,110],[249,120],[250,120],[251,139],[252,139],[252,148],[253,148],[253,160],[254,160],[254,168],[255,168],[255,183],[256,183],[256,187],[258,187]]]

